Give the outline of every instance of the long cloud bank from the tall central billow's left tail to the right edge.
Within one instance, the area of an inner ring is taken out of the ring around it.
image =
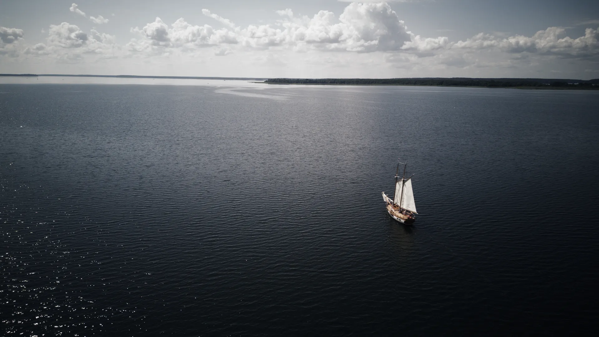
[[[447,37],[421,37],[409,31],[403,20],[386,3],[352,3],[340,16],[319,11],[313,17],[296,17],[290,8],[277,10],[282,17],[276,25],[240,27],[228,19],[202,10],[205,16],[221,23],[223,28],[191,25],[183,18],[167,25],[160,18],[143,28],[132,28],[140,35],[131,50],[156,48],[220,47],[237,50],[291,49],[296,52],[322,50],[355,53],[407,53],[430,57],[446,53],[474,53],[495,50],[510,54],[529,53],[563,58],[592,58],[599,55],[598,30],[588,28],[585,36],[570,38],[561,27],[549,27],[532,37],[514,35],[498,38],[480,33],[465,41],[449,41]]]

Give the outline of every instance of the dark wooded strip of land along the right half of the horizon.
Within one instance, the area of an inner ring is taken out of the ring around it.
[[[274,85],[404,85],[465,86],[522,89],[599,89],[599,79],[471,79],[468,77],[418,77],[404,79],[268,79]]]

